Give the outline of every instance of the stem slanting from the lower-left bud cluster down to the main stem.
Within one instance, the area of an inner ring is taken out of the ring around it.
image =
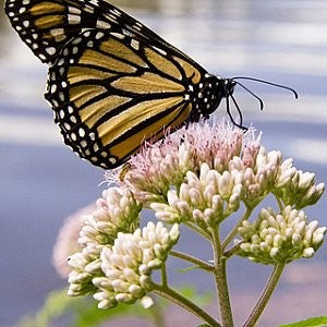
[[[221,327],[221,325],[217,320],[215,320],[208,313],[206,313],[199,306],[197,306],[180,293],[175,292],[174,290],[170,289],[169,287],[164,287],[155,283],[154,292],[157,295],[160,295],[171,301],[172,303],[187,310],[189,312],[191,312],[192,314],[210,325],[210,327]]]

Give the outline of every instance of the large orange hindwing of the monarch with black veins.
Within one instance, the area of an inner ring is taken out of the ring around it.
[[[140,144],[184,123],[198,71],[180,56],[114,29],[68,43],[49,70],[46,98],[64,142],[94,165],[121,165]]]

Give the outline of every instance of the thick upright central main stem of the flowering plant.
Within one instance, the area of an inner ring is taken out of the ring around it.
[[[213,251],[215,258],[215,282],[218,294],[219,312],[223,327],[233,326],[233,317],[231,312],[231,305],[229,300],[227,274],[226,274],[226,257],[223,256],[222,247],[219,238],[219,227],[211,229],[213,235]]]

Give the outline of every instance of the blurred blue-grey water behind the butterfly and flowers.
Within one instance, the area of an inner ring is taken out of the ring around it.
[[[1,1],[0,1],[1,2]],[[245,123],[263,131],[267,149],[281,149],[295,166],[327,181],[327,2],[322,0],[112,1],[189,53],[209,72],[254,76],[294,87],[246,83],[265,100],[237,89]],[[43,98],[47,68],[35,58],[0,12],[0,326],[12,326],[63,287],[51,251],[65,216],[96,199],[104,171],[62,145]],[[225,116],[223,106],[217,112]],[[326,195],[308,208],[327,222]],[[207,244],[186,232],[179,249],[207,258]],[[327,314],[326,245],[314,259],[287,269],[261,326]],[[174,265],[174,263],[171,263]],[[269,267],[235,259],[230,271],[239,326],[258,296]],[[197,271],[175,272],[173,282],[211,280]],[[282,308],[282,310],[281,310]],[[111,325],[110,325],[111,326]],[[112,325],[114,326],[114,324]],[[187,325],[185,325],[187,326]]]

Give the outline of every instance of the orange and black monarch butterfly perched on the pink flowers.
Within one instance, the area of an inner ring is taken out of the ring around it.
[[[235,78],[207,73],[104,0],[8,0],[5,12],[49,65],[45,97],[64,143],[96,166],[122,165],[143,141],[207,118],[222,98],[232,98],[240,123],[229,106],[228,114],[244,129]]]

